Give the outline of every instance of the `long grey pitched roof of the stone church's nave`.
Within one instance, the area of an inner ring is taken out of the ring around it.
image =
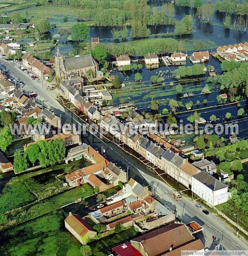
[[[95,63],[90,54],[64,60],[64,68],[66,71],[92,67],[94,65]]]

